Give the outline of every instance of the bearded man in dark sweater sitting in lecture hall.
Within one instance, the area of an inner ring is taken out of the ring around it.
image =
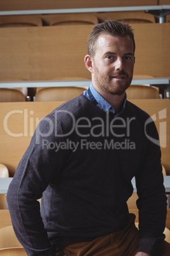
[[[134,50],[128,24],[96,25],[85,57],[89,89],[38,125],[7,194],[28,255],[169,255],[160,147],[147,136],[158,139],[157,130],[126,100]],[[126,204],[134,176],[140,231]]]

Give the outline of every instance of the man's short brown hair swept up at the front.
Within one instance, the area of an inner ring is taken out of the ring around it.
[[[134,34],[131,26],[126,24],[123,20],[106,20],[93,27],[93,30],[88,36],[88,54],[91,57],[95,56],[96,51],[96,41],[100,34],[110,34],[112,36],[129,36],[133,41],[133,53],[135,50]]]

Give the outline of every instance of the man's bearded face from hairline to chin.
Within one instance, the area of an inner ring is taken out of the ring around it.
[[[98,92],[122,95],[131,84],[134,68],[133,41],[129,36],[101,34],[91,58],[93,86]]]

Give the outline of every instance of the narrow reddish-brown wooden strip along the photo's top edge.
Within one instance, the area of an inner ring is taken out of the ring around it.
[[[150,6],[157,5],[157,0],[1,0],[0,10],[43,10],[43,9],[67,9],[67,8],[98,8],[98,7],[121,7],[121,6]]]

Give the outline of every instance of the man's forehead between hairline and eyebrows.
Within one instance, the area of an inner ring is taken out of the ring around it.
[[[112,36],[101,34],[96,41],[96,51],[105,52],[108,50],[123,50],[133,53],[133,41],[129,36]]]

